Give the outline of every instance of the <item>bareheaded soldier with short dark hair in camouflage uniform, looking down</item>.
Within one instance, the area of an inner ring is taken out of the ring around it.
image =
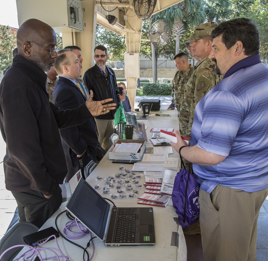
[[[188,56],[184,52],[174,56],[175,67],[178,71],[172,82],[172,103],[180,112],[181,101],[184,96],[185,85],[193,72],[193,66],[188,61]]]

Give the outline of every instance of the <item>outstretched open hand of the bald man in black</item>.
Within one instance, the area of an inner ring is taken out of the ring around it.
[[[106,114],[110,110],[116,109],[116,107],[115,107],[116,103],[105,104],[109,101],[112,101],[113,99],[111,99],[111,98],[105,99],[102,101],[93,101],[92,98],[93,98],[93,92],[92,92],[92,90],[90,90],[90,96],[87,99],[87,101],[85,102],[85,105],[87,106],[89,112],[91,113],[91,115],[93,117]],[[105,104],[105,105],[103,105],[103,104]]]

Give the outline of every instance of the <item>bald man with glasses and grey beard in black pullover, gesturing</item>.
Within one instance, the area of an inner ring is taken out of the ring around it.
[[[90,98],[62,111],[49,101],[47,75],[57,55],[57,37],[48,24],[29,19],[17,32],[18,55],[0,84],[0,129],[6,142],[6,189],[18,204],[20,221],[41,227],[62,203],[59,184],[67,173],[59,128],[77,126],[109,113],[112,99]],[[102,105],[106,104],[106,105]]]

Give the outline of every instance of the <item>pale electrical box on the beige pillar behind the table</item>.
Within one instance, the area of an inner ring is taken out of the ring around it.
[[[125,78],[140,77],[140,53],[126,52],[124,55],[124,63],[125,63]]]

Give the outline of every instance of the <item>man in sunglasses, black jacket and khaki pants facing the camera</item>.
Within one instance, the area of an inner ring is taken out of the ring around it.
[[[93,100],[111,97],[113,102],[117,103],[115,110],[106,115],[95,117],[99,142],[103,149],[107,151],[111,147],[109,138],[114,133],[115,113],[120,106],[119,89],[114,71],[106,66],[106,61],[109,58],[106,47],[98,45],[95,47],[94,53],[96,64],[84,73],[83,80],[85,85],[88,90],[93,90]]]

